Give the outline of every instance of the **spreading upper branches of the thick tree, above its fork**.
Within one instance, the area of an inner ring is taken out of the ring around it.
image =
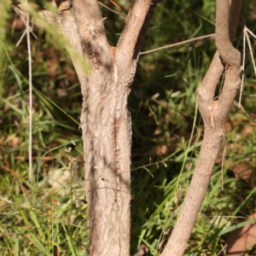
[[[160,1],[135,0],[132,2],[116,48],[109,47],[108,45],[101,11],[96,0],[73,0],[69,2],[72,3],[72,6],[65,0],[55,0],[60,10],[57,14],[46,9],[39,9],[37,6],[38,15],[43,19],[36,20],[36,25],[43,28],[47,26],[47,23],[54,25],[57,31],[64,35],[79,55],[80,61],[77,61],[77,57],[73,57],[73,63],[76,69],[81,66],[81,64],[76,62],[81,62],[81,56],[84,55],[86,56],[85,59],[90,61],[94,71],[111,73],[114,58],[119,73],[123,72],[130,65],[134,67],[135,72],[137,59],[143,47],[149,20],[153,15],[156,4]],[[29,6],[34,5],[30,3]],[[26,17],[26,8],[21,5],[14,5],[13,8],[18,15]],[[90,11],[86,11],[88,9]],[[73,55],[72,49],[69,49],[69,52]],[[82,74],[84,72],[81,70],[78,73]],[[79,75],[79,79],[84,77],[81,74]],[[133,75],[131,73],[131,79],[127,80],[127,84],[131,83]]]

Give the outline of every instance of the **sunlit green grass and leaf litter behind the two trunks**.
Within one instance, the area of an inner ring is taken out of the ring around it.
[[[26,27],[4,2],[0,3],[0,254],[87,255],[78,78],[61,39],[34,27],[31,183],[26,37],[15,46]],[[51,6],[43,0],[32,2],[48,9]],[[101,3],[118,11],[108,0]],[[104,23],[109,44],[117,43],[123,15],[130,7],[129,1],[116,3],[122,15],[100,5],[103,17],[108,17]],[[245,1],[236,38],[239,49],[242,22],[255,33],[255,14],[255,4]],[[162,1],[154,11],[143,49],[213,33],[214,17],[213,0]],[[169,227],[175,224],[174,213],[183,201],[201,145],[203,126],[195,90],[215,50],[213,38],[207,38],[141,55],[138,62],[129,98],[133,135],[131,254],[143,243],[149,247],[149,255],[156,255],[172,232]],[[246,56],[244,111],[234,106],[230,113],[223,150],[188,255],[218,255],[235,224],[256,212],[256,79],[248,52]],[[256,248],[247,255],[256,255]]]

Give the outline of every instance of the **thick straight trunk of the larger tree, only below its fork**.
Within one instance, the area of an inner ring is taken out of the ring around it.
[[[117,67],[92,78],[89,89],[83,88],[81,117],[90,255],[129,255],[130,89]]]

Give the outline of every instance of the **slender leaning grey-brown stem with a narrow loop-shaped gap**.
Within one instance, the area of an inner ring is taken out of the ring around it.
[[[212,169],[224,137],[224,124],[241,84],[241,56],[233,47],[241,11],[241,0],[217,0],[216,6],[216,45],[211,66],[200,87],[196,98],[205,132],[199,159],[195,166],[189,189],[185,195],[172,235],[161,253],[163,256],[182,256],[193,230],[201,203],[210,183]],[[225,71],[224,89],[218,100],[214,100],[218,80]]]

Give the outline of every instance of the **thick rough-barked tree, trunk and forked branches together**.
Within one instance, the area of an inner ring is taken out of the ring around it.
[[[116,47],[108,45],[96,0],[57,0],[60,13],[40,12],[50,24],[60,27],[75,49],[70,54],[83,95],[81,128],[90,255],[125,256],[130,252],[131,118],[127,97],[157,2],[132,1]],[[22,12],[17,6],[14,9]],[[40,20],[38,25],[44,26]],[[80,56],[90,64],[90,72]]]

